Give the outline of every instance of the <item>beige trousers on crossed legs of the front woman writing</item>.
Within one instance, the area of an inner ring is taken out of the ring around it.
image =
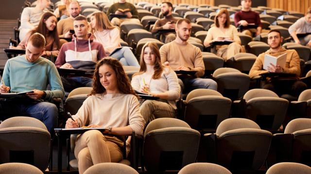
[[[114,136],[103,135],[97,130],[86,131],[77,137],[74,156],[78,160],[79,174],[92,165],[122,160],[123,142]]]

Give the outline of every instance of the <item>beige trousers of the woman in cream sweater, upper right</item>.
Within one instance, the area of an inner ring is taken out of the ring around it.
[[[217,49],[217,56],[225,58],[225,60],[234,57],[237,53],[245,52],[239,43],[230,43],[229,45],[222,45]]]

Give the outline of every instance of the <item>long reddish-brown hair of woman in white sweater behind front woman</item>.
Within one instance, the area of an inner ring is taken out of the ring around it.
[[[140,69],[139,69],[139,72],[135,73],[133,76],[145,73],[147,71],[146,63],[144,60],[144,51],[146,47],[149,47],[151,51],[155,53],[155,66],[154,66],[155,73],[153,74],[152,78],[158,79],[161,77],[161,74],[163,72],[163,66],[161,64],[161,56],[160,56],[159,48],[154,42],[147,42],[142,47],[141,54],[140,54]]]

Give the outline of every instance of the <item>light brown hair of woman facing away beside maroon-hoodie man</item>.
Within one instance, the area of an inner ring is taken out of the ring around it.
[[[94,16],[95,19],[96,19],[96,25],[95,25],[95,29],[93,29],[91,27],[91,33],[93,34],[95,31],[98,31],[100,29],[115,29],[115,28],[118,28],[116,26],[113,26],[107,15],[104,14],[103,12],[94,12],[91,14],[91,16]]]

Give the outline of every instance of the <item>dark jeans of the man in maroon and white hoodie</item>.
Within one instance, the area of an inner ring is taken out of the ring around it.
[[[93,87],[93,79],[88,77],[61,77],[61,79],[66,92],[78,87]]]

